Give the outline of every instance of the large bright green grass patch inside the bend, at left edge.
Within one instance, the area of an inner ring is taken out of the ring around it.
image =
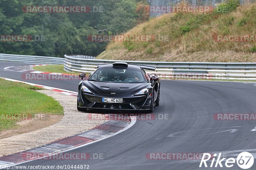
[[[5,120],[5,114],[56,114],[63,108],[52,97],[36,92],[41,88],[0,79],[0,131],[15,127],[15,120]]]

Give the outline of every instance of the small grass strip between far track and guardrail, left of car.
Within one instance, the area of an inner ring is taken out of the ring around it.
[[[75,71],[73,71],[73,72],[64,71],[63,64],[35,66],[34,69],[38,70],[38,71],[46,71],[46,72],[53,72],[53,73],[77,73]]]

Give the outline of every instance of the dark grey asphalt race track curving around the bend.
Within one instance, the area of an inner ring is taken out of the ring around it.
[[[4,70],[14,65],[31,63],[0,62],[0,77],[26,81],[22,80],[21,72]],[[28,82],[77,91],[79,80]],[[256,113],[256,82],[162,80],[160,91],[160,105],[155,107],[154,114],[156,118],[168,114],[168,119],[137,120],[130,129],[116,136],[69,151],[103,153],[103,159],[35,160],[20,166],[86,164],[90,169],[241,169],[236,164],[232,168],[199,168],[200,160],[152,160],[146,154],[222,152],[232,157],[248,151],[255,155],[256,131],[251,131],[255,121],[214,120],[213,115]],[[251,169],[255,168],[254,162]]]

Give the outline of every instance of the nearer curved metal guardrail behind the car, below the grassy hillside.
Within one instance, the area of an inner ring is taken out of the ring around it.
[[[193,79],[248,79],[256,80],[256,63],[203,63],[203,62],[152,62],[152,61],[126,61],[126,60],[99,60],[90,58],[76,58],[64,55],[64,70],[91,73],[97,69],[97,64],[114,62],[127,62],[156,66],[156,74],[161,78]]]

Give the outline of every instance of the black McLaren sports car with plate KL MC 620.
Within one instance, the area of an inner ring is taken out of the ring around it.
[[[155,67],[132,65],[124,62],[98,65],[86,80],[79,75],[77,110],[87,108],[117,110],[148,110],[159,105],[160,80],[145,70]]]

